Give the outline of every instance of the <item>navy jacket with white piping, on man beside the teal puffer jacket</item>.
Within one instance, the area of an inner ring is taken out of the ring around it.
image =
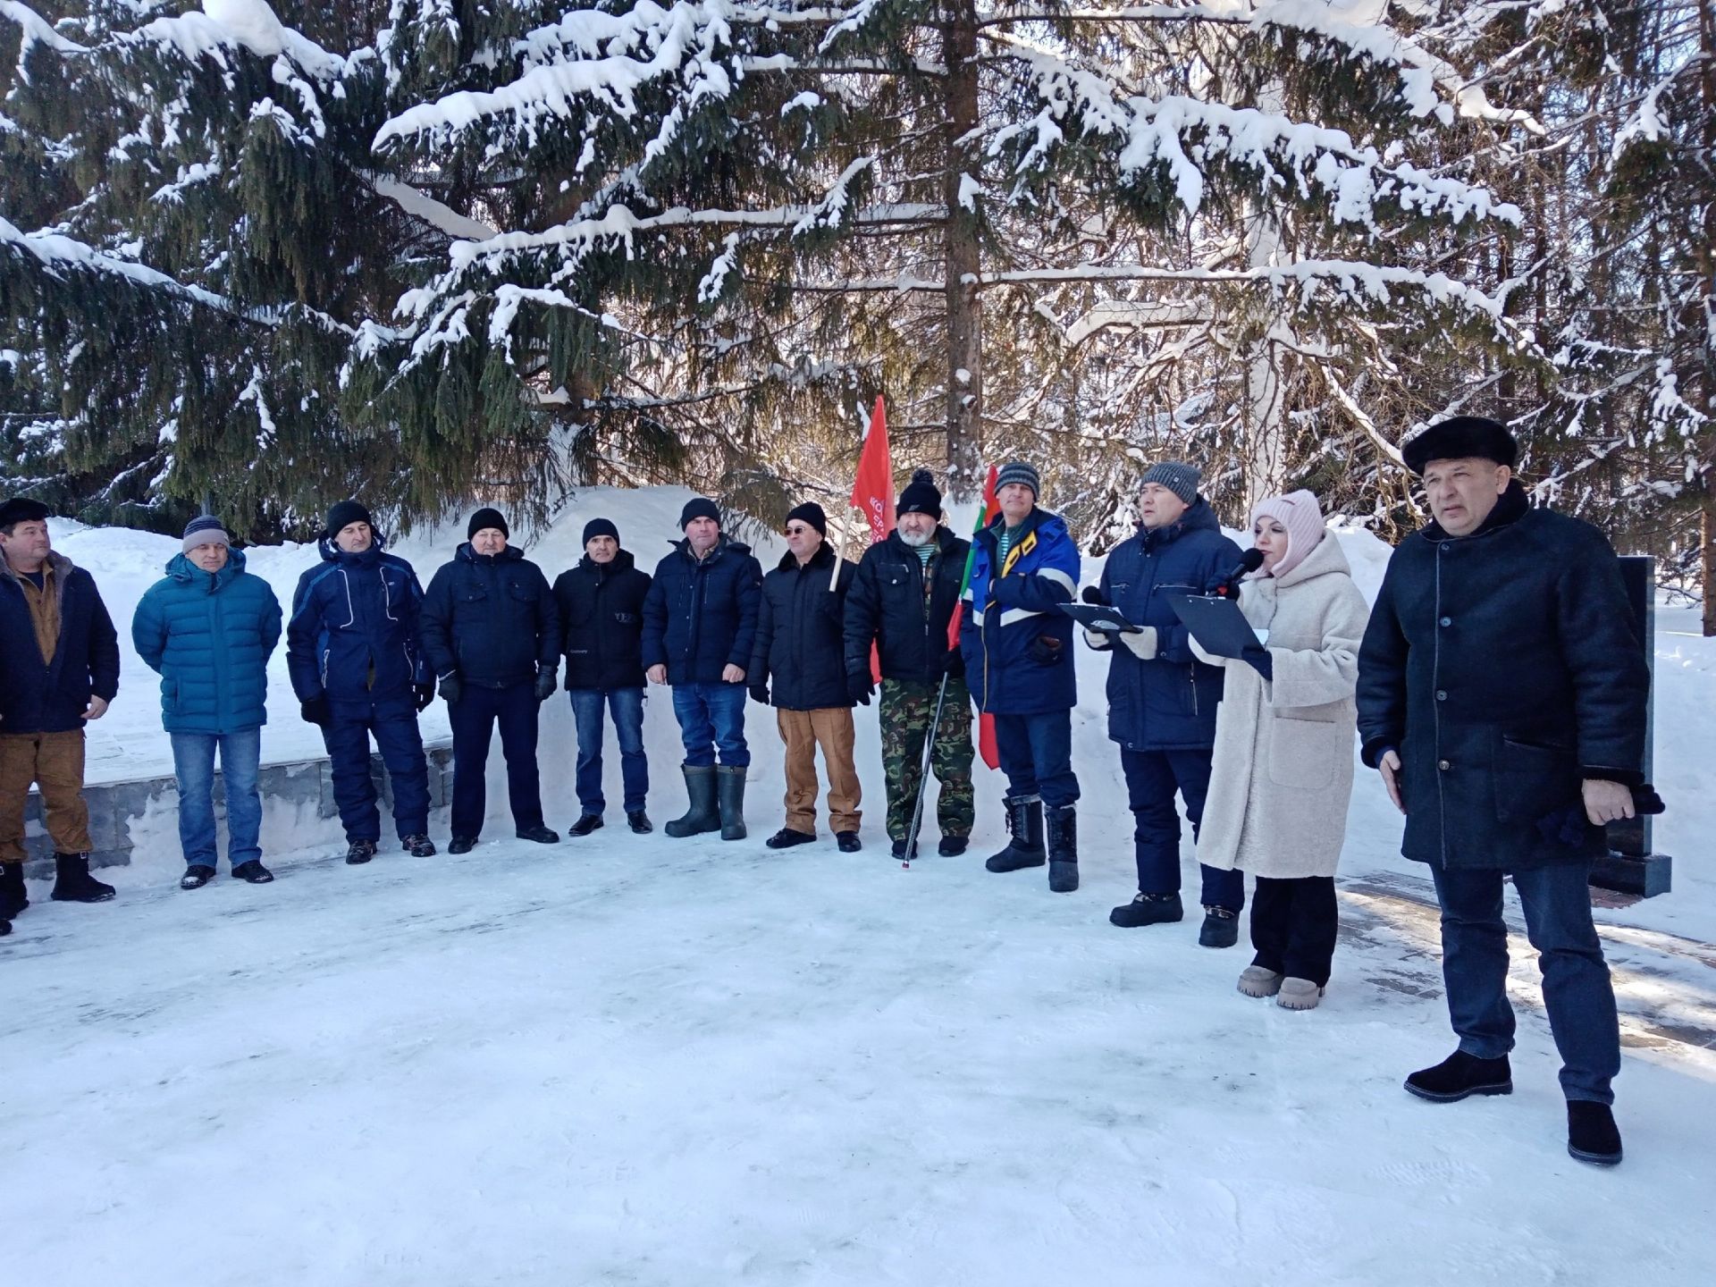
[[[386,702],[429,683],[419,647],[424,590],[412,565],[381,549],[348,554],[328,537],[299,578],[287,625],[287,669],[300,702]]]

